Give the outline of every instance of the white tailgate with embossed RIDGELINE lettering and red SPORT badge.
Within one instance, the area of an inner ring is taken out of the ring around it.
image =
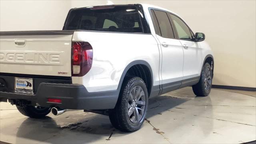
[[[0,72],[71,76],[73,31],[0,32]]]

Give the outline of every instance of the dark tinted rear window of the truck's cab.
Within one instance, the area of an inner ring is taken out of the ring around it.
[[[97,30],[142,33],[140,12],[135,6],[96,6],[73,10],[64,30]]]

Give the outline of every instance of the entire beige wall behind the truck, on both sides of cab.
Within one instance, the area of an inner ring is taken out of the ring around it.
[[[179,14],[194,32],[206,34],[206,41],[212,47],[215,58],[213,84],[256,87],[255,0],[111,0],[111,2],[154,4]],[[36,2],[1,0],[0,30],[60,30],[69,8],[107,3],[109,3],[107,0]],[[25,19],[22,18],[24,14]]]

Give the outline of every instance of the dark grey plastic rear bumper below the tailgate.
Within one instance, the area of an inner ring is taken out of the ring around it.
[[[0,100],[27,100],[34,106],[58,107],[74,110],[104,110],[115,107],[118,90],[88,92],[80,84],[57,84],[42,82],[36,93],[0,90]],[[61,103],[48,102],[48,98],[61,99]]]

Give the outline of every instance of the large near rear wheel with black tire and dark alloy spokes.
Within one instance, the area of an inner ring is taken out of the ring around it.
[[[136,91],[134,91],[134,88]],[[131,92],[132,90],[133,90],[133,93],[135,92],[134,98],[136,98],[135,99],[136,101],[134,101],[135,103],[129,104],[129,102],[131,102],[130,94],[132,94]],[[144,93],[139,92],[140,96],[138,95],[136,96],[137,90],[141,92],[143,90]],[[140,102],[143,101],[143,104],[144,104],[142,106],[144,108],[143,112],[140,109],[136,109],[140,107],[140,104],[137,103],[138,101]],[[134,104],[136,104],[136,106]],[[132,112],[132,115],[129,116],[128,109],[131,110],[132,108],[134,109],[133,110],[134,113]],[[126,77],[124,79],[124,83],[122,84],[122,88],[120,91],[120,95],[119,95],[116,107],[110,110],[109,112],[110,122],[115,128],[123,132],[134,132],[140,129],[140,127],[142,126],[142,123],[144,122],[146,117],[147,109],[148,109],[148,91],[147,91],[145,82],[142,80],[142,78],[139,78],[139,77]],[[135,112],[138,112],[138,113],[135,114]],[[130,118],[131,116],[132,118]],[[132,120],[134,119],[136,119],[135,120],[136,122],[132,122]]]

